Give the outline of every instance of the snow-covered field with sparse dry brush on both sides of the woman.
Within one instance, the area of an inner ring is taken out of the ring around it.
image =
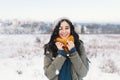
[[[43,45],[50,35],[0,35],[0,80],[48,80]],[[120,35],[80,35],[90,69],[84,80],[120,80]]]

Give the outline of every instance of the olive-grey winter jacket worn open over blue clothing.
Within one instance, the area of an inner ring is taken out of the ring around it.
[[[75,51],[73,53],[74,56],[69,57],[72,62],[72,80],[82,80],[89,69],[88,58],[85,54],[83,43],[80,45],[80,52],[81,55]],[[44,73],[49,80],[58,80],[59,71],[65,60],[66,57],[62,55],[58,55],[56,58],[52,57],[52,51],[49,47],[46,48],[46,55],[44,56]]]

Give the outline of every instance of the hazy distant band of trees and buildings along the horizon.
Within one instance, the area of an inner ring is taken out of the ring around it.
[[[48,34],[54,24],[35,21],[0,21],[0,34]],[[120,34],[120,24],[74,23],[80,34]]]

